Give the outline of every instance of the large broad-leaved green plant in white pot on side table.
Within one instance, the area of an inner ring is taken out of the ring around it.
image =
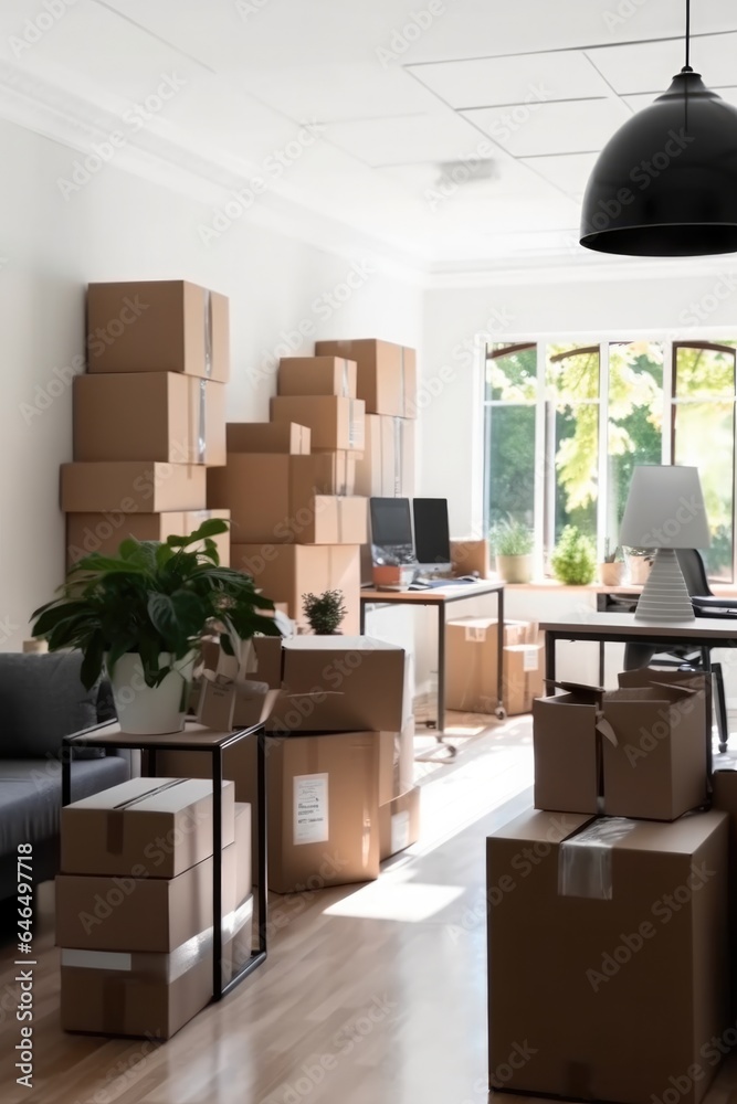
[[[124,540],[115,555],[93,552],[71,569],[60,596],[34,613],[32,635],[50,651],[78,648],[90,689],[103,669],[124,732],[178,732],[207,633],[228,655],[257,633],[278,636],[274,608],[249,575],[220,565],[212,538],[228,522],[210,519],[189,537]],[[198,545],[198,548],[192,548]]]

